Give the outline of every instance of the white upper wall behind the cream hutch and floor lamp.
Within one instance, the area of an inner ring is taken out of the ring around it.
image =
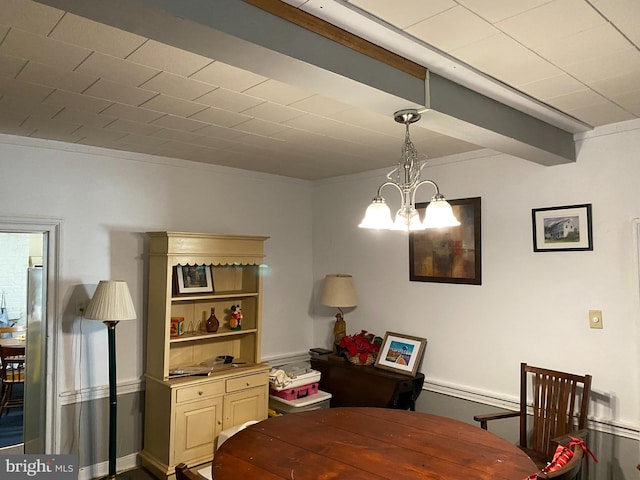
[[[6,135],[0,172],[0,216],[62,220],[54,355],[60,395],[108,384],[106,329],[75,314],[102,279],[126,280],[138,313],[137,322],[117,328],[118,381],[142,377],[147,231],[270,236],[263,358],[311,345],[308,182]]]

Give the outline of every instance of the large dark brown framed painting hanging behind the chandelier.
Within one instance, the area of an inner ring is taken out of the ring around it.
[[[409,280],[482,285],[480,197],[448,200],[457,227],[409,233]],[[421,219],[429,202],[416,203]]]

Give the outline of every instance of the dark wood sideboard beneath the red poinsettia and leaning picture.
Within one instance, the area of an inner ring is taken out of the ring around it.
[[[312,356],[311,368],[321,373],[320,390],[331,394],[332,407],[383,407],[415,410],[424,374],[415,377],[336,361],[328,355]]]

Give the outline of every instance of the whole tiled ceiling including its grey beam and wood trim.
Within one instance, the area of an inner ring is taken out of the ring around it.
[[[0,0],[0,133],[301,179],[575,161],[640,116],[640,0]]]

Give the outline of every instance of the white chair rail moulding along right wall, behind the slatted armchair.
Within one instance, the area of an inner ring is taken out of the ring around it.
[[[467,400],[481,405],[489,405],[508,410],[518,410],[520,408],[519,398],[499,395],[495,392],[487,392],[470,388],[465,385],[457,385],[442,380],[425,379],[423,390],[439,393],[450,397]],[[630,438],[640,441],[640,426],[625,424],[616,420],[589,417],[587,428],[598,432],[604,432],[619,437]]]

